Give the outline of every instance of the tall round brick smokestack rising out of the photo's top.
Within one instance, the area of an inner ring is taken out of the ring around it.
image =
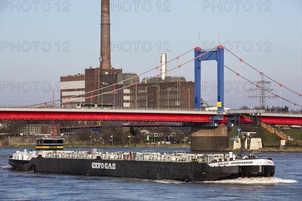
[[[101,57],[100,68],[111,68],[110,56],[110,3],[101,1]]]

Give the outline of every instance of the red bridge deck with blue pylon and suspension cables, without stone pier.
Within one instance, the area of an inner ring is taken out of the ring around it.
[[[281,84],[277,82],[276,80],[269,77],[267,74],[264,74],[262,71],[256,69],[255,67],[251,66],[249,63],[244,61],[239,56],[235,55],[230,50],[224,48],[223,46],[219,45],[216,48],[210,49],[210,50],[203,50],[199,47],[193,48],[194,50],[194,58],[186,61],[180,65],[175,66],[174,68],[168,70],[172,71],[175,69],[181,69],[184,65],[186,65],[189,62],[194,61],[194,72],[195,72],[195,110],[194,111],[170,111],[170,110],[77,110],[77,109],[57,109],[55,108],[56,105],[61,107],[62,105],[68,106],[69,100],[74,97],[79,96],[86,96],[82,99],[90,98],[92,99],[94,96],[100,96],[106,93],[116,93],[117,90],[123,90],[124,88],[130,87],[130,86],[137,86],[140,84],[139,82],[135,82],[131,84],[128,84],[121,88],[114,88],[112,91],[106,91],[103,92],[104,88],[107,88],[109,86],[102,86],[101,88],[97,88],[93,91],[85,92],[84,94],[74,95],[71,97],[68,97],[68,99],[58,99],[58,100],[52,100],[52,102],[45,102],[44,104],[38,103],[32,106],[28,106],[28,108],[1,108],[0,110],[0,120],[97,120],[97,121],[158,121],[158,122],[202,122],[202,123],[208,123],[209,126],[214,125],[221,125],[228,123],[230,120],[230,117],[232,115],[225,114],[224,111],[224,67],[225,69],[229,69],[232,72],[234,72],[237,77],[241,77],[245,79],[247,82],[250,82],[252,85],[255,85],[256,88],[260,88],[262,90],[261,93],[269,93],[273,97],[284,100],[285,102],[289,104],[293,104],[295,107],[302,108],[300,106],[301,104],[296,104],[292,100],[289,100],[287,98],[284,98],[280,94],[272,93],[271,90],[265,88],[262,84],[257,84],[255,81],[251,81],[244,77],[243,75],[239,74],[238,72],[232,70],[230,67],[224,65],[224,52],[229,52],[231,55],[235,56],[236,59],[240,62],[240,64],[246,64],[248,67],[252,68],[253,70],[257,71],[261,77],[264,76],[273,82],[277,83],[281,88],[285,88],[286,90],[289,90],[293,94],[297,95],[299,99],[301,99],[301,94],[292,90],[291,88],[286,87],[284,84]],[[190,51],[192,51],[190,50]],[[166,62],[169,63],[174,60],[179,60],[182,56],[189,53],[190,51],[187,51],[180,56],[177,56],[173,58],[172,60]],[[200,100],[201,100],[201,89],[200,89],[200,83],[201,83],[201,62],[202,61],[208,61],[208,60],[216,60],[217,61],[217,112],[204,112],[201,111],[200,108]],[[164,64],[162,64],[164,65]],[[156,66],[155,68],[148,69],[147,71],[139,74],[143,75],[145,73],[148,73],[153,70],[158,70],[160,66]],[[167,71],[167,72],[168,72]],[[153,77],[148,77],[148,79],[152,79],[154,77],[160,77],[163,73],[161,72]],[[136,77],[136,76],[135,76]],[[132,79],[133,77],[124,79],[123,81],[119,83],[114,83],[110,86],[115,86],[116,84],[124,83],[127,80]],[[96,94],[96,91],[97,94]],[[87,94],[90,94],[91,96],[87,97]],[[96,94],[96,95],[93,95]],[[264,100],[263,100],[264,99]],[[81,98],[79,99],[81,100]],[[261,103],[265,104],[265,96],[260,97],[260,108],[264,109],[265,105],[261,105]],[[280,102],[281,103],[281,102]],[[115,109],[115,107],[114,107]],[[258,113],[258,112],[256,112]],[[300,114],[300,115],[299,115]],[[299,114],[263,114],[261,116],[261,121],[268,124],[288,124],[288,125],[302,125],[302,115],[301,112]],[[246,118],[245,116],[240,116],[240,122],[241,123],[250,123],[250,118]]]

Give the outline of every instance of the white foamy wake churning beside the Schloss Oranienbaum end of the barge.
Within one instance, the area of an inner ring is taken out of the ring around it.
[[[276,177],[252,177],[225,179],[220,181],[204,181],[203,183],[243,183],[243,184],[275,184],[275,183],[297,183],[293,179],[281,179]]]

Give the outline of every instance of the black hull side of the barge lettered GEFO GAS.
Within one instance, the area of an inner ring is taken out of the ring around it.
[[[32,158],[30,161],[9,159],[16,170],[100,176],[172,179],[180,181],[213,181],[239,177],[274,175],[275,166],[210,167],[197,162],[154,162],[101,159]]]

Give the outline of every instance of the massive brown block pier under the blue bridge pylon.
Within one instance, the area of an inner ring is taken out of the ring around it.
[[[192,151],[220,151],[229,147],[228,127],[192,126]]]

